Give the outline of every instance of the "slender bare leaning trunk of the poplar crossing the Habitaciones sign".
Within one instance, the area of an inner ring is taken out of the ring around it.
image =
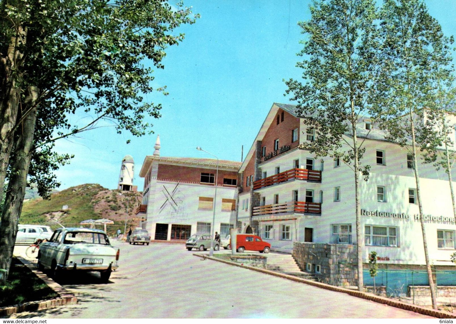
[[[423,247],[425,249],[425,260],[426,260],[426,270],[428,273],[428,281],[429,281],[429,288],[430,288],[430,297],[432,300],[432,308],[437,309],[437,301],[435,295],[435,285],[434,279],[432,278],[432,269],[429,263],[429,252],[427,247],[427,239],[426,239],[426,230],[425,230],[425,220],[423,215],[423,205],[421,203],[421,195],[420,195],[420,174],[418,172],[418,161],[417,161],[417,154],[416,154],[416,139],[415,139],[415,124],[413,121],[413,109],[410,109],[410,127],[411,127],[411,135],[412,135],[412,152],[413,152],[413,166],[415,171],[415,182],[416,182],[416,198],[418,200],[418,208],[420,210],[420,223],[421,223],[421,232],[423,234]]]

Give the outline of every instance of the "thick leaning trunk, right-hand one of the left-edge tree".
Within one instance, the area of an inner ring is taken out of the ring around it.
[[[36,87],[27,88],[25,106],[35,104],[38,91]],[[0,224],[0,268],[9,272],[14,244],[16,243],[17,224],[21,215],[22,203],[25,196],[27,174],[30,166],[33,134],[36,124],[36,108],[24,119],[23,127],[16,133],[17,142],[14,149],[14,162],[11,163],[11,172],[5,198],[5,207],[1,215]]]

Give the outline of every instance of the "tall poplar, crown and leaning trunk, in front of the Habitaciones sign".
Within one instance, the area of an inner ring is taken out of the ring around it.
[[[422,0],[384,0],[381,17],[383,51],[378,71],[385,95],[377,116],[381,128],[388,131],[387,139],[406,148],[413,159],[426,269],[432,307],[436,309],[418,162],[422,158],[420,152],[430,158],[435,155],[435,148],[427,146],[426,137],[428,130],[435,127],[431,108],[438,89],[436,67],[445,68],[450,63],[449,44]]]

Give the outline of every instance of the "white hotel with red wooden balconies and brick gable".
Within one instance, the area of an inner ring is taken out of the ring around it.
[[[305,122],[295,106],[272,105],[239,170],[241,231],[256,232],[272,249],[287,252],[296,241],[356,244],[352,169],[300,148],[314,136]],[[358,136],[365,137],[370,127],[367,118],[362,120]],[[379,263],[425,264],[415,177],[406,149],[385,141],[375,129],[365,147],[361,163],[371,169],[368,181],[360,180],[364,260],[376,251]],[[419,167],[430,263],[454,267],[450,255],[456,252],[456,225],[447,174],[432,164]]]

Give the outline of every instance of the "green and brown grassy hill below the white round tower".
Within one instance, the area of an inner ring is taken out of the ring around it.
[[[123,233],[125,219],[127,229],[139,225],[140,218],[134,212],[141,199],[141,192],[121,192],[99,184],[83,184],[53,193],[50,200],[36,198],[24,202],[19,223],[46,224],[55,229],[60,227],[58,223],[79,227],[86,219],[108,218],[114,221],[114,225],[108,225],[108,232],[112,234],[120,228]]]

